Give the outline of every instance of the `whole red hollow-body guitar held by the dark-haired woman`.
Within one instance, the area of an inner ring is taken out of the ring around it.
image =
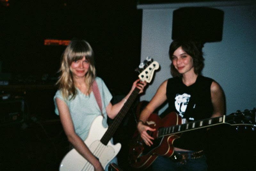
[[[148,132],[154,138],[153,145],[150,147],[144,143],[138,131],[135,132],[129,150],[129,162],[132,167],[146,169],[149,167],[158,155],[171,157],[174,152],[172,145],[181,133],[211,127],[219,124],[244,125],[246,129],[255,130],[256,127],[256,109],[245,110],[244,112],[231,113],[216,118],[197,120],[181,124],[181,117],[175,113],[167,114],[161,119],[157,114],[151,114],[145,123],[156,131]]]

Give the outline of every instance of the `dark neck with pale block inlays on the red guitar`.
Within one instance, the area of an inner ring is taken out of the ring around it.
[[[178,133],[182,133],[182,132],[186,132],[186,131],[191,131],[191,130],[195,130],[195,129],[206,128],[206,127],[211,127],[214,125],[223,124],[223,123],[225,123],[226,119],[230,120],[233,118],[224,115],[224,116],[220,116],[220,117],[216,117],[216,118],[197,120],[194,122],[184,123],[181,125],[174,125],[171,127],[159,128],[158,137],[172,135],[172,134],[178,134]]]

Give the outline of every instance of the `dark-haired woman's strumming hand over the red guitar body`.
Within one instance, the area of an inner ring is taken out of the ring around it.
[[[143,139],[145,144],[147,144],[148,146],[151,146],[153,144],[153,142],[151,140],[154,140],[154,138],[152,136],[149,136],[147,131],[148,130],[155,131],[156,129],[150,128],[150,127],[142,124],[142,122],[138,123],[137,128],[140,132],[140,137]]]

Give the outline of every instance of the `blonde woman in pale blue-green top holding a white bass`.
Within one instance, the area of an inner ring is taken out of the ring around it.
[[[146,83],[136,80],[128,95],[119,103],[112,105],[110,102],[112,95],[103,80],[96,77],[92,48],[84,40],[73,40],[69,43],[62,55],[60,72],[57,82],[59,90],[54,96],[55,113],[60,115],[68,141],[76,151],[93,165],[94,170],[104,170],[98,159],[84,144],[92,121],[101,115],[92,93],[92,82],[94,80],[97,82],[100,91],[104,127],[108,126],[107,116],[111,119],[115,118],[133,89],[137,87],[141,93]],[[116,163],[116,158],[111,162]]]

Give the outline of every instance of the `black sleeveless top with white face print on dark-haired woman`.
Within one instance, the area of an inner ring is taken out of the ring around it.
[[[168,111],[175,111],[187,122],[210,118],[213,112],[211,84],[213,80],[198,75],[196,82],[186,86],[181,77],[167,81]],[[184,132],[173,142],[174,147],[198,151],[204,148],[206,128]]]

